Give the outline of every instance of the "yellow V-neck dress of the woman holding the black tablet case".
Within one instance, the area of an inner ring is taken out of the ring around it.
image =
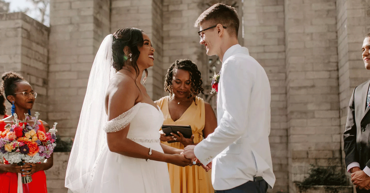
[[[196,103],[192,103],[182,116],[173,121],[168,110],[169,96],[158,100],[157,105],[161,108],[164,116],[164,123],[167,125],[190,125],[194,134],[194,143],[203,139],[203,128],[205,125],[204,101],[198,96]],[[196,104],[196,105],[195,105]],[[180,142],[167,143],[168,146],[184,149]],[[180,167],[168,163],[169,180],[172,193],[214,193],[211,182],[211,170],[206,172],[201,166]]]

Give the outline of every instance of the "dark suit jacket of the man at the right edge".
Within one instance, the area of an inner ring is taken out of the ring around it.
[[[361,170],[370,167],[370,108],[366,108],[370,80],[357,86],[351,96],[344,137],[346,167],[358,162]]]

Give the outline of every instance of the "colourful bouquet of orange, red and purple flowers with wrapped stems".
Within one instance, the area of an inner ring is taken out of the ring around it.
[[[0,128],[0,156],[10,164],[38,163],[41,159],[50,158],[53,153],[57,123],[45,133],[39,129],[41,122],[38,121],[38,115],[36,112],[35,116],[30,118],[25,114],[25,120],[20,121],[17,114],[13,114],[13,124]],[[34,121],[32,126],[26,122],[29,119]],[[22,183],[30,182],[31,176],[22,176]]]

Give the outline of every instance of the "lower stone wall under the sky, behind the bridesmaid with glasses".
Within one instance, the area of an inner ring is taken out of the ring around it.
[[[47,121],[49,28],[24,13],[0,14],[0,69],[23,75],[37,92],[32,114]],[[7,114],[11,105],[6,102]]]

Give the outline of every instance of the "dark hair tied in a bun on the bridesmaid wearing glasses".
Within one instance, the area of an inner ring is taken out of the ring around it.
[[[20,74],[16,72],[5,72],[1,79],[3,79],[1,90],[4,92],[4,96],[8,101],[9,99],[7,97],[9,95],[13,95],[14,92],[16,92],[17,83],[22,81],[27,82]]]

